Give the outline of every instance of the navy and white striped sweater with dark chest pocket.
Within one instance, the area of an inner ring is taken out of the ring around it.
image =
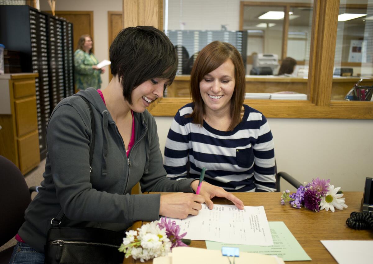
[[[183,106],[172,121],[164,148],[167,177],[199,178],[205,167],[204,180],[226,191],[275,191],[274,143],[264,115],[244,105],[241,123],[233,131],[219,131],[186,118],[193,107]]]

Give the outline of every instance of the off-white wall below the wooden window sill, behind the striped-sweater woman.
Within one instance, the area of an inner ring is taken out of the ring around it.
[[[156,117],[162,154],[172,117]],[[363,191],[373,177],[373,121],[269,118],[278,171],[298,181],[330,179],[342,191]],[[294,187],[281,181],[282,191]],[[348,201],[346,201],[348,204]]]

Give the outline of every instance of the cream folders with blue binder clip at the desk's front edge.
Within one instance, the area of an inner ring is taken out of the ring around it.
[[[172,249],[165,257],[153,259],[153,264],[191,264],[191,263],[214,263],[227,264],[228,261],[233,263],[233,257],[226,257],[222,255],[219,250],[208,250],[204,248],[191,248],[186,246],[179,246]],[[239,257],[234,258],[235,264],[243,263],[267,263],[267,264],[283,264],[283,260],[276,256],[266,256],[256,253],[240,252]]]

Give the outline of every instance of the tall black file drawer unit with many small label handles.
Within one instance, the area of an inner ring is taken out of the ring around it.
[[[46,128],[53,108],[74,93],[73,25],[29,6],[0,6],[0,43],[21,51],[22,72],[35,80],[40,158],[46,149]]]

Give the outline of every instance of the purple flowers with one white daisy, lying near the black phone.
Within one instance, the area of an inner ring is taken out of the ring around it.
[[[312,182],[305,182],[301,185],[296,193],[290,194],[289,190],[282,192],[281,204],[289,202],[294,208],[300,209],[302,206],[312,211],[319,212],[320,210],[332,211],[334,209],[342,210],[347,208],[345,198],[341,187],[334,188],[334,185],[329,184],[330,179],[312,179]]]

